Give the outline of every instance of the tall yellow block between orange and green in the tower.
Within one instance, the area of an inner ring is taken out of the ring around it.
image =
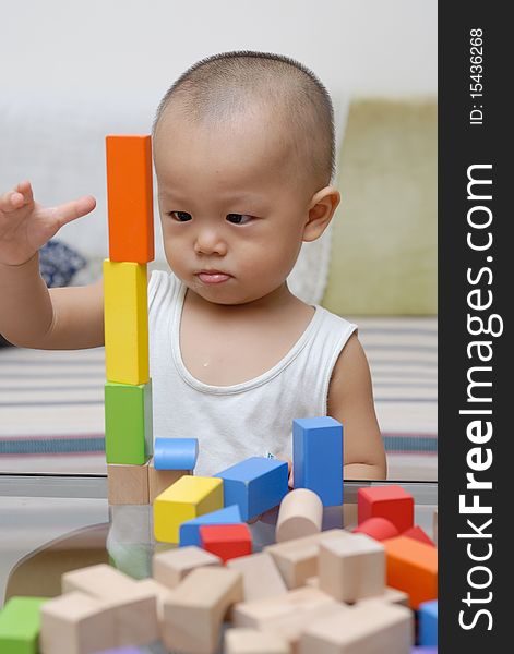
[[[141,385],[150,379],[146,264],[104,262],[107,382]]]

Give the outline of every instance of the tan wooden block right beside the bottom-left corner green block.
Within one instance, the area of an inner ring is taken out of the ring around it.
[[[68,593],[40,610],[41,654],[89,654],[117,646],[115,615],[85,593]]]

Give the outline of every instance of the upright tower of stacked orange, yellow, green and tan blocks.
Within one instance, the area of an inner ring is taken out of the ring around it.
[[[107,136],[106,150],[106,459],[109,486],[130,494],[125,500],[146,504],[153,452],[147,315],[147,264],[154,258],[151,136]]]

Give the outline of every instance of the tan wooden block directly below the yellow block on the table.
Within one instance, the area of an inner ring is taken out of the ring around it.
[[[220,566],[222,564],[223,561],[218,556],[191,545],[190,547],[178,547],[154,554],[152,574],[163,585],[175,589],[192,570],[204,566]]]

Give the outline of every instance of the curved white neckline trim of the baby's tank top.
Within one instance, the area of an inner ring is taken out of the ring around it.
[[[319,304],[311,305],[314,308],[314,315],[310,319],[308,326],[303,330],[303,334],[298,338],[296,343],[291,347],[291,349],[268,371],[265,371],[258,377],[253,377],[252,379],[247,379],[246,382],[240,382],[239,384],[232,384],[230,386],[213,386],[211,384],[204,384],[189,372],[186,367],[186,364],[182,359],[182,353],[180,351],[180,324],[182,318],[183,303],[186,299],[187,286],[180,281],[179,291],[177,302],[175,303],[175,311],[171,317],[171,352],[174,356],[175,366],[182,377],[182,379],[194,388],[195,390],[200,390],[205,393],[211,395],[235,395],[238,392],[243,392],[247,390],[251,390],[252,388],[256,388],[266,384],[274,377],[276,377],[284,368],[286,368],[303,350],[306,344],[309,342],[312,334],[318,329],[318,325],[322,319],[322,313],[325,311]]]

